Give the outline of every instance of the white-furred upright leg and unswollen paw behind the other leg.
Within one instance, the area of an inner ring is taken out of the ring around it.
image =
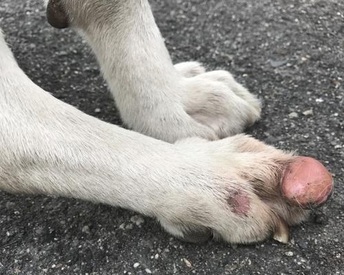
[[[71,25],[91,45],[129,128],[167,142],[216,140],[259,119],[259,100],[230,73],[173,66],[147,0],[45,3],[51,25]]]

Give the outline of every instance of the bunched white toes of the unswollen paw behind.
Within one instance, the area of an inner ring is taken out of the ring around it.
[[[226,71],[206,72],[197,62],[175,65],[184,76],[184,109],[219,138],[241,133],[260,118],[261,103]]]

